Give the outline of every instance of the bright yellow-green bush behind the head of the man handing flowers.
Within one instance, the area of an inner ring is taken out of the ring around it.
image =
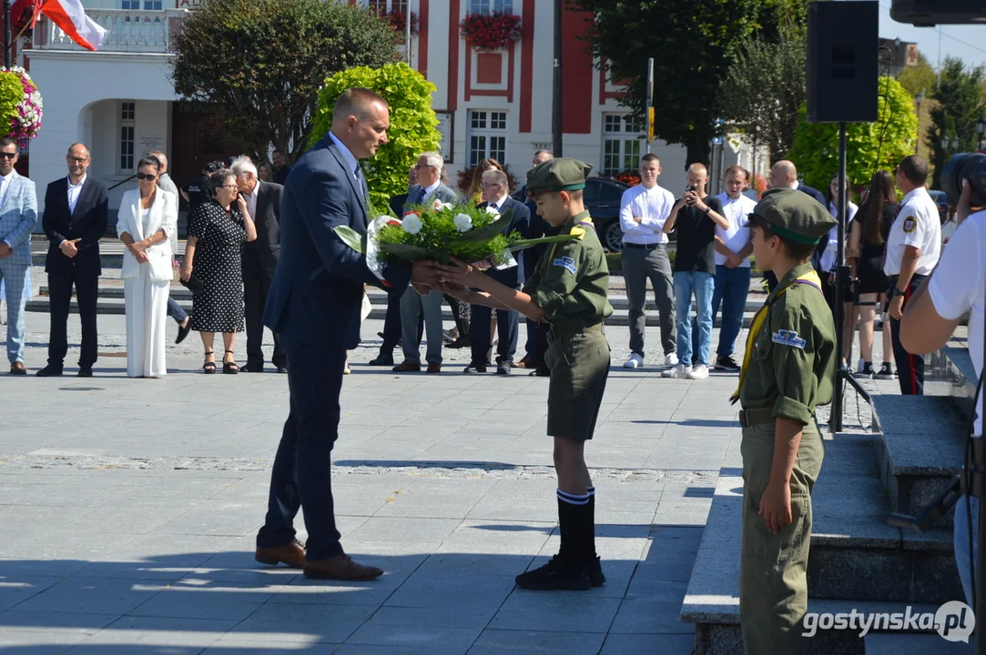
[[[432,110],[435,85],[403,62],[381,68],[359,66],[336,73],[318,92],[311,145],[332,126],[332,107],[346,89],[363,87],[375,91],[390,105],[387,143],[377,155],[363,163],[370,201],[381,214],[387,213],[390,198],[407,192],[407,173],[421,153],[437,151],[442,135]]]

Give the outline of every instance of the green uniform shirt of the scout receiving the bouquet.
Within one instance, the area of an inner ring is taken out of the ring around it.
[[[562,226],[569,234],[580,221],[589,219],[583,212]],[[537,261],[524,286],[524,293],[544,310],[548,323],[599,323],[613,313],[606,299],[609,268],[602,253],[596,229],[584,226],[581,239],[556,243]]]

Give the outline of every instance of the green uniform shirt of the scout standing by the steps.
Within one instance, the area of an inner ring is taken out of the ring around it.
[[[743,409],[770,409],[775,418],[808,425],[814,408],[832,400],[835,324],[825,297],[813,285],[796,284],[811,270],[792,269],[767,302],[769,315],[753,346],[740,389]]]

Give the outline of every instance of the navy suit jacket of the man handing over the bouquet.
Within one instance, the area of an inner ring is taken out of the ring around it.
[[[329,135],[291,169],[281,202],[281,258],[270,285],[263,323],[278,335],[351,350],[360,342],[363,286],[403,294],[409,264],[384,267],[387,285],[335,233],[349,226],[366,234],[367,199]]]

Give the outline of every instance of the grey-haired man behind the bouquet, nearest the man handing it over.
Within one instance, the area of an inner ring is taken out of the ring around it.
[[[418,173],[418,183],[407,193],[407,204],[404,211],[415,205],[432,204],[436,201],[456,203],[456,192],[442,183],[442,168],[445,161],[438,153],[422,153],[414,169]],[[425,360],[428,361],[428,372],[438,373],[442,370],[442,293],[431,292],[426,295],[404,294],[400,298],[400,323],[403,329],[404,360],[393,367],[399,373],[421,370],[421,350],[418,341],[418,316],[425,314],[425,337],[428,340],[428,350]]]

